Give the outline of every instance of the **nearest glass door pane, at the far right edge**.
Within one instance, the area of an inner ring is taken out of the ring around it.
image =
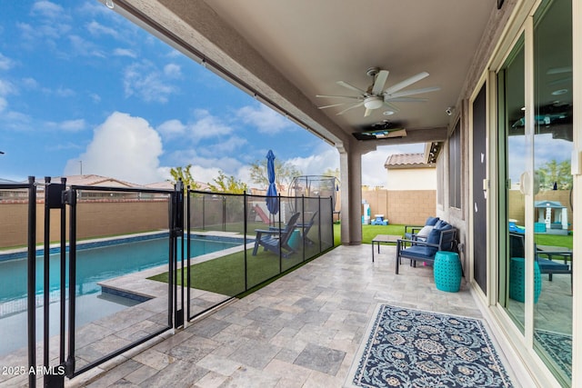
[[[572,5],[545,1],[534,15],[534,232],[541,287],[534,348],[563,385],[572,371]]]

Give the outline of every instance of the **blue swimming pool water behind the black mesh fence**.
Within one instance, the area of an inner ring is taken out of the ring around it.
[[[193,235],[190,242],[191,257],[196,257],[241,245],[244,240],[242,238],[225,239],[215,236]],[[181,247],[181,244],[178,244],[178,247]],[[125,274],[167,265],[168,253],[169,241],[167,234],[78,244],[75,272],[75,303],[77,305],[75,319],[77,327],[121,311],[128,306],[143,302],[143,300],[140,301],[139,299],[132,300],[118,295],[102,293],[99,283]],[[42,251],[37,252],[37,254],[35,299],[37,306],[36,338],[38,340],[42,338],[43,327],[44,256]],[[4,256],[0,257],[0,284],[2,284],[0,287],[0,333],[11,333],[11,335],[0,342],[0,354],[10,353],[25,346],[27,338],[27,260],[25,257],[15,258],[15,254]],[[20,254],[20,256],[23,256],[23,254]],[[59,303],[57,302],[60,301],[60,253],[58,249],[51,250],[49,279],[49,309],[51,318],[53,318],[58,316]],[[66,285],[68,288],[68,274],[66,276]],[[54,319],[51,319],[51,321],[54,321]],[[55,323],[51,322],[51,335],[58,333],[58,327]]]

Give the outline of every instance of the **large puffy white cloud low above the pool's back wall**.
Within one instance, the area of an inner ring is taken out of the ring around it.
[[[70,159],[64,174],[78,174],[79,160],[85,174],[111,176],[136,184],[163,181],[159,168],[162,140],[145,119],[115,112],[97,126],[85,153]]]

